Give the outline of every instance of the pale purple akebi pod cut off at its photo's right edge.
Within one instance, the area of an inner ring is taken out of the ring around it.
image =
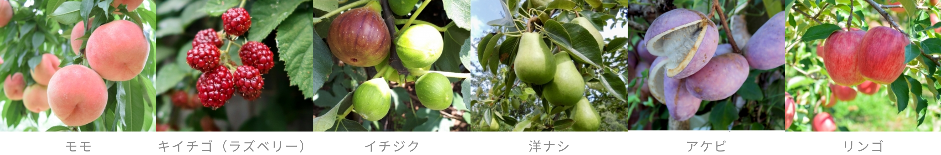
[[[745,44],[742,54],[752,68],[771,70],[784,65],[784,12],[774,14]]]

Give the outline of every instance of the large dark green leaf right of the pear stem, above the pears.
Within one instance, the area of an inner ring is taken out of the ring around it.
[[[559,44],[559,47],[572,54],[572,58],[578,62],[598,68],[603,65],[601,64],[601,51],[598,48],[598,41],[582,25],[575,23],[562,24],[549,20],[543,27],[552,42]]]

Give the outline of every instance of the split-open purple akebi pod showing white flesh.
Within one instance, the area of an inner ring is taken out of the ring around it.
[[[682,79],[706,66],[719,45],[719,31],[702,12],[677,8],[650,23],[644,39],[650,54],[669,57],[662,62],[666,76]]]

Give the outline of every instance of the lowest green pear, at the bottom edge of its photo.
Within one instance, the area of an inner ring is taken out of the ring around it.
[[[598,128],[601,125],[601,116],[598,115],[598,111],[595,110],[594,106],[591,106],[591,102],[588,102],[588,98],[582,97],[582,100],[575,104],[575,109],[572,109],[572,120],[575,120],[575,123],[572,124],[572,130],[575,132],[598,132]]]

